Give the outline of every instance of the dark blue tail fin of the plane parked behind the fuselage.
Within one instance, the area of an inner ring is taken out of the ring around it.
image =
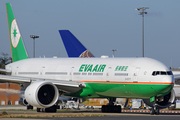
[[[59,33],[69,57],[94,57],[69,30],[59,30]]]

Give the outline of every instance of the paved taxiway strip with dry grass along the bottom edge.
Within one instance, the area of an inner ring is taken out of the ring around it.
[[[1,112],[1,111],[0,111]],[[8,115],[19,116],[19,118],[0,118],[1,120],[179,120],[180,114],[160,113],[150,115],[149,113],[101,113],[100,110],[72,110],[58,111],[57,113],[44,113],[26,110],[7,110]],[[21,118],[22,116],[31,116]],[[37,117],[38,116],[38,117]],[[59,116],[59,117],[57,117]],[[75,116],[75,117],[74,117]],[[79,117],[81,116],[81,117]]]

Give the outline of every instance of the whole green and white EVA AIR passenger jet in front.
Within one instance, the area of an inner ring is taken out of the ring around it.
[[[11,4],[6,3],[12,63],[0,81],[21,84],[28,104],[56,112],[59,96],[107,98],[102,112],[121,112],[116,98],[140,98],[150,114],[175,99],[174,76],[163,63],[151,58],[29,58]],[[161,74],[159,74],[161,73]]]

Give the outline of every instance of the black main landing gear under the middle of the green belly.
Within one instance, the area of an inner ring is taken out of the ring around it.
[[[116,98],[108,98],[109,104],[103,105],[101,108],[102,112],[108,112],[108,113],[121,113],[121,106],[120,105],[114,105],[114,102],[116,101]]]

